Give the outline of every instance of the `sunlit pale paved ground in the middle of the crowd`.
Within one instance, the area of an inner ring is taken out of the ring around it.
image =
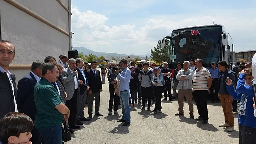
[[[107,79],[106,79],[107,82]],[[224,122],[221,104],[208,101],[209,124],[202,125],[189,118],[188,104],[184,104],[184,116],[175,116],[178,112],[178,101],[163,101],[162,113],[141,111],[141,105],[131,108],[131,125],[121,126],[116,122],[121,117],[118,114],[108,115],[108,84],[103,84],[101,92],[100,112],[103,116],[94,116],[91,121],[72,135],[71,141],[65,144],[234,144],[238,143],[238,114],[234,114],[235,131],[227,132],[218,127]],[[86,105],[85,113],[88,113]],[[94,109],[94,108],[93,108]],[[151,110],[154,109],[154,105]],[[194,101],[194,115],[198,112]],[[86,116],[88,116],[86,114]]]

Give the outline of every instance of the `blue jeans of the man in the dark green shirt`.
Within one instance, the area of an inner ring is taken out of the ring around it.
[[[62,130],[61,125],[38,128],[45,144],[61,144]]]

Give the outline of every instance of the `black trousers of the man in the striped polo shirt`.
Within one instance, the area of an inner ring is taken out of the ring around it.
[[[207,109],[207,98],[208,90],[205,91],[198,91],[195,90],[195,100],[196,100],[196,106],[197,111],[199,114],[199,117],[201,117],[203,120],[208,120],[208,109]]]

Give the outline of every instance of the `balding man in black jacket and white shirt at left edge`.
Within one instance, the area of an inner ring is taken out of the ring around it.
[[[0,40],[0,119],[9,112],[18,112],[15,75],[8,70],[14,57],[14,45]]]

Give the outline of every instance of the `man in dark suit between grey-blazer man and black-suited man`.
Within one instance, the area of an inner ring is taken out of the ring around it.
[[[76,125],[83,125],[81,121],[90,121],[90,119],[85,118],[84,108],[86,95],[89,90],[88,79],[83,71],[84,60],[82,58],[76,58],[76,70],[78,72],[78,79],[83,81],[83,84],[80,85],[80,96],[77,98],[77,114],[76,114]]]

